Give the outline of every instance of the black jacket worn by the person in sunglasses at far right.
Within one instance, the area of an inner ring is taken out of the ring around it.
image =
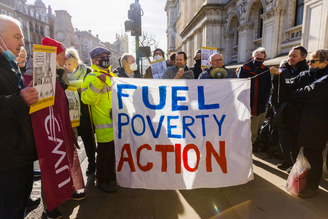
[[[328,68],[303,71],[285,83],[273,76],[273,86],[286,99],[274,117],[278,126],[298,131],[297,145],[323,150],[328,141]],[[323,79],[322,79],[323,78]],[[322,81],[318,81],[322,79]],[[309,86],[306,86],[310,84]]]

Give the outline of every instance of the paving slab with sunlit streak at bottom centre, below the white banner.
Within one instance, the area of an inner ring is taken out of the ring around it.
[[[239,219],[220,190],[154,195],[154,208],[156,219]]]

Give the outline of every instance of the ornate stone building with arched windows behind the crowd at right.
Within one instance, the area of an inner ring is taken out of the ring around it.
[[[169,55],[184,51],[191,66],[195,50],[215,47],[236,68],[265,47],[266,63],[277,65],[294,46],[309,52],[328,48],[328,1],[167,0]]]

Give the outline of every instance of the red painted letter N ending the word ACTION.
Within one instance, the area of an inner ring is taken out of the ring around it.
[[[226,159],[226,142],[219,142],[220,155],[214,150],[211,142],[206,142],[206,170],[212,172],[212,154],[216,162],[221,167],[223,173],[227,173],[227,159]],[[184,151],[183,151],[184,152]],[[185,160],[183,160],[185,162]],[[186,168],[187,169],[187,168]]]

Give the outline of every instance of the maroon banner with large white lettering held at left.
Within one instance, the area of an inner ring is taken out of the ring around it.
[[[70,114],[63,88],[56,82],[53,106],[31,113],[48,210],[84,189]]]

